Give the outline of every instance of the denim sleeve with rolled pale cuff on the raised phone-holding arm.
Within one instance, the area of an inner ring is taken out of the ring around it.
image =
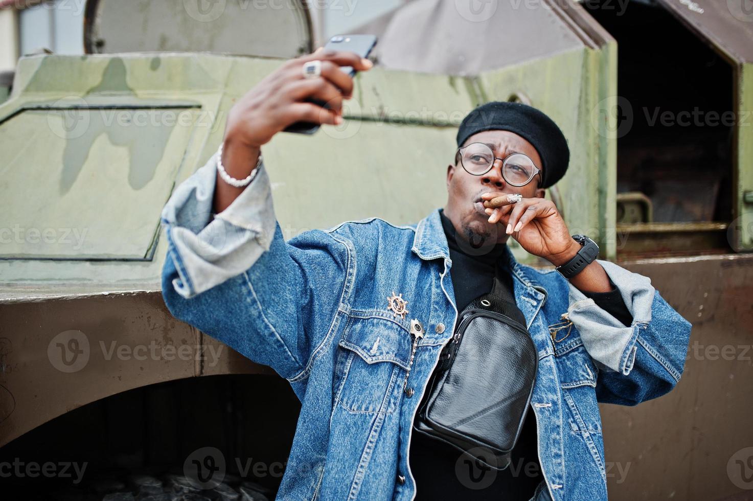
[[[215,154],[178,185],[163,209],[165,304],[175,318],[282,377],[305,380],[334,325],[348,248],[319,230],[286,242],[264,165],[214,215],[216,161]]]

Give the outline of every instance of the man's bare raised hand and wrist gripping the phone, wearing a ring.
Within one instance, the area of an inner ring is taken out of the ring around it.
[[[313,60],[322,61],[322,73],[304,78],[303,65]],[[353,92],[353,79],[341,66],[363,72],[373,65],[353,52],[320,48],[288,60],[245,93],[230,108],[225,126],[221,160],[227,173],[236,179],[248,176],[256,166],[261,145],[291,124],[340,124],[343,99],[350,99]],[[325,102],[326,107],[312,100]],[[242,191],[218,177],[215,212],[222,212]]]

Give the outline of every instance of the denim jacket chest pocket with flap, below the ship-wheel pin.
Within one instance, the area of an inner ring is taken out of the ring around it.
[[[410,367],[410,331],[401,319],[360,314],[349,317],[340,339],[335,398],[351,412],[393,413]]]

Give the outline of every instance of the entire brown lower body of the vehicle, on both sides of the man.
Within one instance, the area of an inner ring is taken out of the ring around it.
[[[753,447],[753,255],[620,265],[649,276],[694,328],[674,391],[634,408],[602,405],[610,499],[700,500],[738,492],[740,480],[727,465],[738,451]],[[2,304],[0,325],[0,444],[126,389],[210,374],[274,374],[227,347],[212,362],[209,347],[217,353],[220,345],[172,319],[158,292]],[[61,339],[55,340],[69,330],[81,331],[89,342],[88,362],[70,373],[55,366],[62,363],[63,348],[68,362],[76,363],[76,347],[59,347]],[[136,347],[152,345],[186,347],[189,356],[136,359]],[[203,363],[195,359],[196,347],[203,347]]]

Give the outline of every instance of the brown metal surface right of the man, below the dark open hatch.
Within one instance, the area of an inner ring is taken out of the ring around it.
[[[753,461],[753,255],[620,265],[650,277],[693,330],[672,392],[601,406],[609,499],[707,501],[751,489],[736,460]]]

